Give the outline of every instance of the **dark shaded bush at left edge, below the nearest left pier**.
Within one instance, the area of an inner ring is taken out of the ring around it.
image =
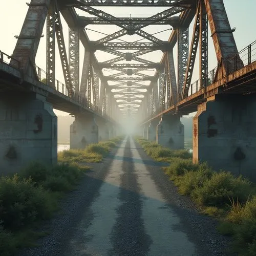
[[[0,220],[11,230],[31,222],[49,218],[56,209],[56,200],[41,186],[36,187],[31,178],[0,179]]]

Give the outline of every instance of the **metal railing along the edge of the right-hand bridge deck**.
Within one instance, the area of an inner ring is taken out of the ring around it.
[[[256,40],[227,60],[227,62],[229,63],[229,71],[227,73],[231,74],[233,72],[236,72],[254,61],[256,61]],[[218,67],[215,67],[207,73],[206,77],[199,78],[195,82],[191,83],[188,90],[188,96],[191,96],[197,93],[203,87],[207,87],[212,84],[215,80],[217,69]],[[201,84],[203,85],[203,87],[201,87]],[[182,100],[181,94],[178,96],[178,99],[178,101]],[[154,116],[160,114],[162,111],[170,108],[170,106],[172,105],[173,102],[165,102],[163,106],[159,106],[159,108],[153,114],[148,115],[146,119],[153,118]]]

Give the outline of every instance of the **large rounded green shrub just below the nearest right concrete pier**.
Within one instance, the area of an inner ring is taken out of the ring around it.
[[[196,187],[191,196],[199,204],[223,207],[229,203],[230,198],[245,202],[251,191],[251,183],[248,180],[221,171],[212,173],[211,178],[205,180],[203,186]]]

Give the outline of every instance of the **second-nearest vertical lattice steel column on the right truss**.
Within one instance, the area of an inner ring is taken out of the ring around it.
[[[188,28],[178,29],[178,92],[182,92],[188,59]]]

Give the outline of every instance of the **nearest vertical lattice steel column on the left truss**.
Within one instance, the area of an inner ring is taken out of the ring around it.
[[[49,7],[46,26],[46,83],[52,88],[55,88],[55,20],[55,5],[52,2]]]

